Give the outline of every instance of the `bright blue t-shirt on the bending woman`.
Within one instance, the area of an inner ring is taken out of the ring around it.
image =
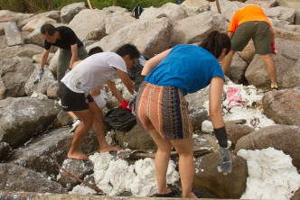
[[[145,81],[157,86],[176,86],[187,95],[208,86],[216,75],[225,78],[218,60],[208,50],[182,44],[173,47]]]

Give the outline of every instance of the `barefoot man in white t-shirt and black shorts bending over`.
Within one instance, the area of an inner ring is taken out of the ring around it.
[[[118,147],[109,146],[105,140],[103,114],[89,95],[89,91],[104,85],[109,80],[114,80],[114,73],[117,70],[128,91],[134,94],[134,84],[127,75],[127,68],[132,68],[139,56],[136,46],[125,44],[116,53],[102,52],[89,56],[61,79],[59,96],[62,109],[65,112],[73,112],[81,121],[74,132],[68,152],[69,159],[89,160],[89,157],[80,152],[79,148],[80,142],[88,134],[91,126],[96,132],[100,152],[120,150]]]

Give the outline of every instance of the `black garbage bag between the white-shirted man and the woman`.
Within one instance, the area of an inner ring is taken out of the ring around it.
[[[117,106],[105,114],[104,123],[106,123],[110,129],[129,132],[136,125],[136,115],[132,114],[131,111]]]

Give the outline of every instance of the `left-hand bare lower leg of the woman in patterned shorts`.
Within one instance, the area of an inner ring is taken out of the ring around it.
[[[166,186],[166,172],[168,169],[172,143],[164,140],[155,129],[149,130],[149,132],[158,147],[155,154],[155,174],[158,187],[157,194],[168,194],[171,192],[171,189]]]

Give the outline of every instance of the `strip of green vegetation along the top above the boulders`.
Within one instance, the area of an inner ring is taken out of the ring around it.
[[[87,0],[0,0],[0,10],[36,14],[51,10],[61,10],[65,5],[78,2],[85,2],[86,7],[89,8]],[[89,2],[93,8],[102,9],[116,5],[132,11],[136,5],[141,5],[142,7],[160,7],[169,2],[177,4],[178,0],[89,0]]]

